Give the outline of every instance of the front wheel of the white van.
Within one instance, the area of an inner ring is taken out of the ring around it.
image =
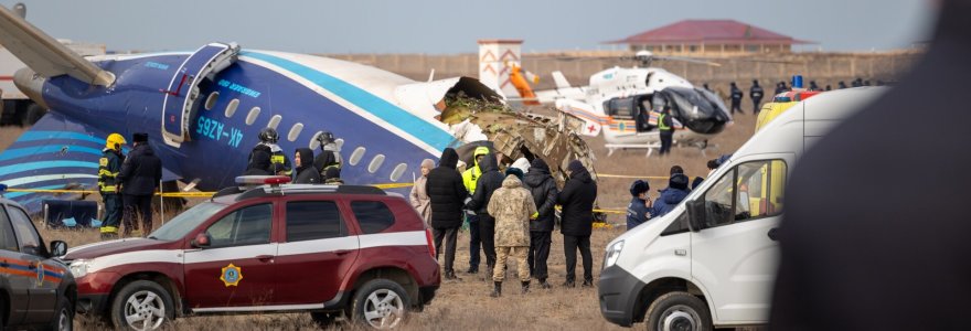
[[[670,292],[651,302],[648,308],[650,331],[709,331],[712,314],[698,297],[686,292]]]

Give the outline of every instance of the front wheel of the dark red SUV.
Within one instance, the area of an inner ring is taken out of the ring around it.
[[[158,330],[175,318],[172,296],[150,280],[125,285],[108,313],[115,328],[129,330]]]

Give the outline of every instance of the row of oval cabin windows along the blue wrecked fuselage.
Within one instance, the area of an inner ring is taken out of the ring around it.
[[[209,97],[206,97],[206,99],[205,99],[205,105],[204,105],[205,110],[212,110],[212,108],[215,107],[216,102],[218,100],[218,97],[220,97],[218,92],[211,93],[209,95]],[[233,115],[236,115],[236,109],[238,107],[239,107],[239,99],[234,98],[234,99],[230,100],[230,104],[226,105],[226,110],[224,114],[226,116],[226,118],[232,118]],[[259,107],[253,107],[249,109],[249,113],[246,114],[246,125],[247,126],[252,126],[254,122],[256,122],[256,118],[259,117],[259,111],[262,111],[262,109]],[[280,121],[282,119],[284,119],[282,116],[274,115],[273,117],[270,117],[269,122],[267,124],[267,127],[277,129],[277,127],[280,125]],[[300,122],[295,124],[292,127],[290,127],[290,131],[287,132],[287,140],[291,141],[291,142],[297,141],[297,138],[300,137],[300,132],[302,132],[302,131],[303,131],[303,124],[300,124]],[[323,131],[317,131],[317,134],[313,134],[313,136],[310,137],[310,145],[308,147],[311,150],[317,150],[317,148],[320,147],[320,141],[317,140],[317,137],[322,134],[323,134]],[[337,139],[335,143],[338,145],[338,149],[340,150],[340,148],[343,147],[343,145],[344,145],[344,139]],[[366,151],[367,151],[367,149],[364,148],[363,146],[358,147],[351,153],[351,158],[348,159],[348,163],[350,163],[351,166],[358,166],[358,163],[360,163],[361,160],[364,158],[364,153]],[[377,172],[377,170],[381,169],[381,166],[384,164],[384,159],[385,159],[384,154],[374,156],[374,158],[371,159],[371,162],[367,163],[367,172],[371,172],[371,173]],[[393,182],[398,181],[402,178],[402,175],[405,174],[405,171],[407,171],[407,169],[408,169],[408,164],[398,163],[397,166],[395,166],[394,170],[392,170],[392,172],[391,172],[391,180]]]

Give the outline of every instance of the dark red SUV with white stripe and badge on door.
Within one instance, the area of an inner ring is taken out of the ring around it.
[[[81,246],[64,260],[79,312],[158,329],[204,313],[310,312],[394,328],[440,282],[430,233],[399,195],[371,186],[230,188],[148,238]]]

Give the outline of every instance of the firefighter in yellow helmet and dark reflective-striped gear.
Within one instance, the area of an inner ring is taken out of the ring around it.
[[[118,134],[108,135],[105,139],[105,149],[102,159],[98,160],[98,191],[102,201],[105,202],[105,218],[102,220],[102,239],[118,237],[118,227],[121,223],[121,192],[117,180],[125,162],[121,147],[127,143],[125,137]]]

